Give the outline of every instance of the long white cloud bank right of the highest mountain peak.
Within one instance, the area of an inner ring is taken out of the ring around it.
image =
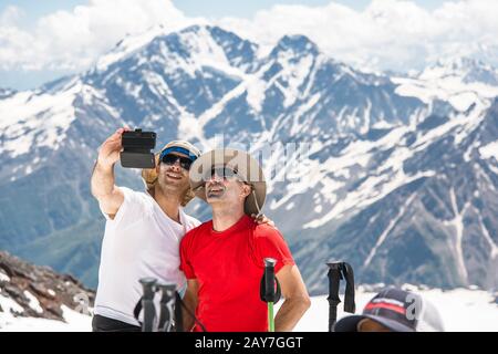
[[[220,25],[272,45],[301,33],[333,58],[382,70],[409,70],[448,55],[479,54],[498,63],[498,1],[445,2],[429,11],[411,1],[373,0],[363,11],[331,2],[323,7],[274,6],[250,21]]]

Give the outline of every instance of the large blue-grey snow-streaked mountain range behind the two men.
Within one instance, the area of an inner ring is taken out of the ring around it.
[[[81,75],[0,100],[0,248],[95,285],[104,219],[90,174],[126,123],[156,131],[157,148],[185,138],[206,150],[218,134],[252,153],[310,144],[299,165],[282,150],[263,163],[293,177],[268,178],[264,210],[312,293],[325,292],[330,259],[363,282],[496,288],[498,86],[483,65],[390,77],[301,35],[269,53],[217,27],[127,38]]]

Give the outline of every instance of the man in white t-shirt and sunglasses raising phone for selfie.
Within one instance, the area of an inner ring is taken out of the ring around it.
[[[200,222],[183,207],[194,197],[188,169],[200,152],[175,140],[144,170],[145,192],[117,187],[114,164],[122,152],[120,128],[101,146],[92,175],[92,195],[106,218],[93,331],[141,331],[133,310],[142,296],[141,278],[185,285],[179,271],[179,241]]]

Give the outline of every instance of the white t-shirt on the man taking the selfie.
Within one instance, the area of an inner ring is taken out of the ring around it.
[[[179,242],[200,222],[180,208],[180,225],[170,219],[151,195],[120,188],[124,201],[114,219],[103,212],[107,221],[94,313],[138,325],[133,315],[143,293],[138,280],[153,277],[183,288],[185,277],[178,269]]]

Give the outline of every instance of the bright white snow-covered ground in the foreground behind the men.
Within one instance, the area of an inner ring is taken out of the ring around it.
[[[424,299],[435,304],[442,314],[447,331],[498,332],[498,305],[489,292],[483,290],[455,289],[442,291],[439,289],[417,291]],[[375,293],[356,291],[356,313],[361,313],[366,302]],[[7,312],[0,312],[1,331],[22,332],[89,332],[91,331],[91,317],[80,314],[68,308],[63,308],[68,323],[43,319],[13,317],[10,309],[15,310],[15,304],[7,298],[0,296],[0,305]],[[342,317],[342,304],[339,308],[339,317]],[[329,323],[329,304],[326,296],[312,299],[311,309],[299,322],[295,331],[324,332]]]

